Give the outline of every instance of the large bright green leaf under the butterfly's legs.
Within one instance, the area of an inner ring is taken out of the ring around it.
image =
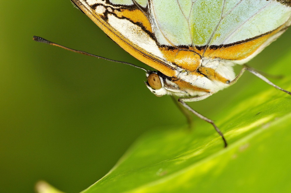
[[[290,61],[291,52],[271,72],[290,73]],[[291,90],[290,74],[272,81]],[[255,94],[215,117],[229,143],[226,149],[203,121],[191,132],[187,126],[156,128],[82,193],[291,192],[291,96],[265,84],[255,80]]]

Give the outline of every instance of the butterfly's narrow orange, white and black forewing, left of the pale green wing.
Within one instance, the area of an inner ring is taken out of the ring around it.
[[[72,1],[132,56],[167,76],[175,75],[175,66],[164,58],[152,33],[146,0]]]

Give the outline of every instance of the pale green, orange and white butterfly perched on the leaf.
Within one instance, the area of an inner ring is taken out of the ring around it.
[[[120,47],[157,70],[139,67],[145,70],[145,85],[153,94],[178,96],[177,104],[212,124],[224,146],[226,139],[214,121],[186,102],[229,87],[245,71],[291,94],[243,65],[290,26],[291,0],[71,1]],[[34,40],[63,47],[40,37]],[[237,75],[236,64],[243,65]]]

